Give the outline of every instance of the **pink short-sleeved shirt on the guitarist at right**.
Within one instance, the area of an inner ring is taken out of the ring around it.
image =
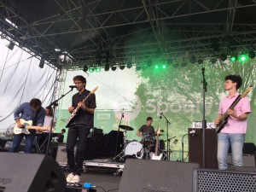
[[[236,100],[236,97],[239,94],[236,93],[235,96],[226,96],[224,99],[221,100],[218,107],[218,113],[224,114],[229,108],[230,105]],[[236,104],[234,108],[235,112],[238,116],[243,113],[251,113],[250,102],[247,97],[241,98],[240,102]],[[232,116],[229,117],[228,123],[224,126],[221,132],[223,133],[246,133],[247,131],[247,120],[238,120],[233,118]]]

